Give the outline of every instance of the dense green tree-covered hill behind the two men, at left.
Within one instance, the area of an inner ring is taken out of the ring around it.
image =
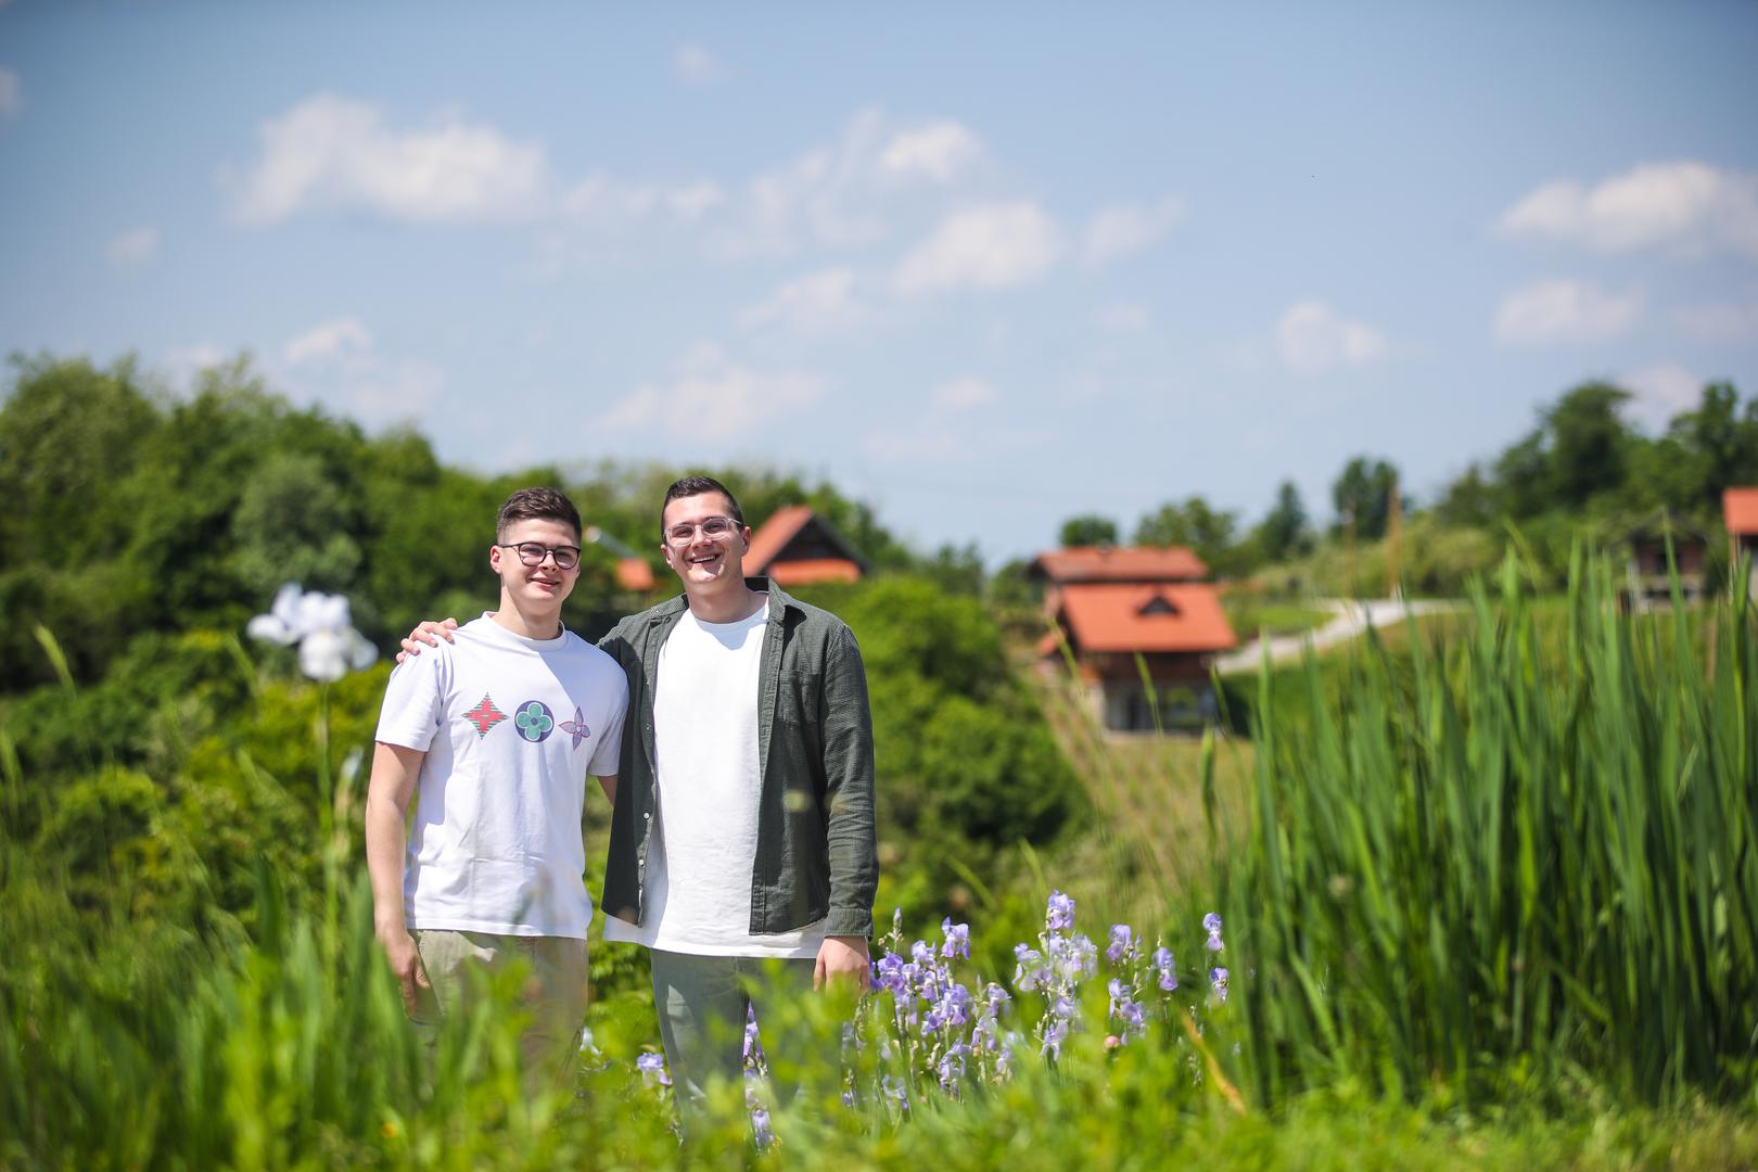
[[[570,626],[591,631],[642,603],[615,585],[617,543],[670,587],[657,503],[686,469],[584,459],[499,476],[447,467],[413,430],[367,436],[288,404],[244,360],[202,373],[192,394],[171,394],[127,358],[12,365],[0,402],[0,692],[53,680],[37,626],[60,638],[76,678],[97,680],[137,634],[243,631],[285,582],[346,594],[355,626],[381,647],[417,619],[464,619],[492,603],[496,510],[534,483],[568,490],[612,539],[585,552]],[[916,555],[828,483],[691,471],[733,485],[754,525],[810,504],[875,569],[981,587],[974,546]]]

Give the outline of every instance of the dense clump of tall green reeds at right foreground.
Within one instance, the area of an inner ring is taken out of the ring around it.
[[[1257,1096],[1484,1100],[1586,1074],[1654,1102],[1758,1075],[1758,698],[1744,590],[1631,617],[1575,553],[1454,643],[1308,659],[1220,875]],[[1271,712],[1269,673],[1259,712]]]

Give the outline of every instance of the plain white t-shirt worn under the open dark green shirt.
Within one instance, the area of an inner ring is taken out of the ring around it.
[[[766,624],[766,606],[738,622],[703,622],[684,611],[659,648],[659,812],[647,847],[647,914],[640,926],[605,917],[605,940],[694,956],[817,956],[823,922],[751,935]]]

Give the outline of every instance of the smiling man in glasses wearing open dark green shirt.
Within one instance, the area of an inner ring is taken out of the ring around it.
[[[745,578],[749,545],[723,483],[679,480],[661,504],[661,552],[684,594],[599,641],[629,682],[605,938],[650,949],[687,1111],[710,1077],[738,1079],[765,970],[793,993],[863,988],[870,972],[879,866],[860,648],[840,619]],[[429,631],[445,634],[424,624],[404,650],[431,645]],[[772,1067],[802,1058],[788,1042],[802,1044],[768,1038]]]

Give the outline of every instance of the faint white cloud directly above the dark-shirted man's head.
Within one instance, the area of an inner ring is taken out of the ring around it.
[[[684,355],[673,378],[636,387],[605,416],[608,430],[663,425],[701,443],[749,434],[763,420],[812,404],[825,380],[802,371],[759,373],[731,360],[717,346]]]

